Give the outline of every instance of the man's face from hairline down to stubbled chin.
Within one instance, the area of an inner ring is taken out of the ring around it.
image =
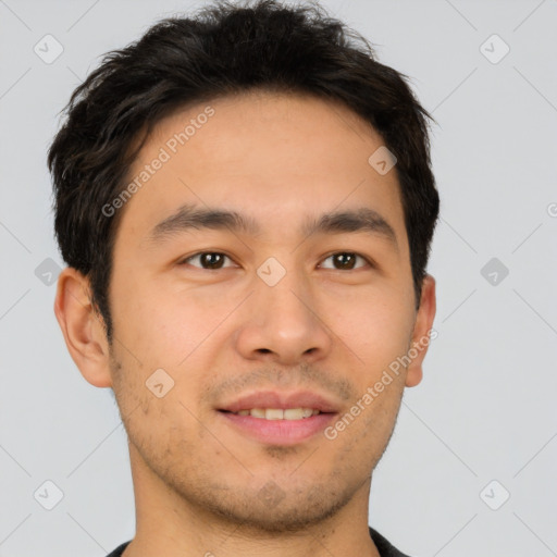
[[[367,503],[424,352],[393,362],[433,319],[414,310],[396,170],[368,162],[382,145],[298,96],[158,125],[117,209],[109,292],[137,505],[164,491],[177,512],[281,531]]]

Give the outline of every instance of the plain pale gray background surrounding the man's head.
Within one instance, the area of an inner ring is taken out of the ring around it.
[[[62,265],[46,149],[103,52],[202,3],[0,0],[3,557],[101,557],[134,534],[117,409],[75,368],[45,284]],[[437,121],[438,337],[375,472],[370,522],[417,557],[557,555],[557,1],[322,3]],[[64,49],[50,64],[34,52],[47,34]],[[47,480],[63,492],[52,510]]]

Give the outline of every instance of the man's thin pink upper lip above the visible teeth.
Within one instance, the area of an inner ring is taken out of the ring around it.
[[[219,410],[239,412],[240,410],[251,410],[252,408],[280,408],[282,410],[286,408],[312,408],[321,412],[338,411],[334,403],[322,395],[309,391],[298,391],[295,393],[258,391],[257,393],[240,396],[219,408]]]

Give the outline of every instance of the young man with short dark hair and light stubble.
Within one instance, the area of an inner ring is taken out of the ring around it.
[[[400,556],[372,472],[432,335],[428,114],[319,5],[218,2],[112,52],[49,151],[54,305],[128,435],[111,556]]]

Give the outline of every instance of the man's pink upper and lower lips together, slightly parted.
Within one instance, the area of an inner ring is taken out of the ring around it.
[[[312,408],[322,413],[301,420],[265,420],[252,416],[239,416],[239,410],[251,408]],[[226,423],[242,435],[272,445],[296,445],[321,433],[337,416],[334,403],[310,392],[280,393],[264,391],[242,396],[218,409]]]

